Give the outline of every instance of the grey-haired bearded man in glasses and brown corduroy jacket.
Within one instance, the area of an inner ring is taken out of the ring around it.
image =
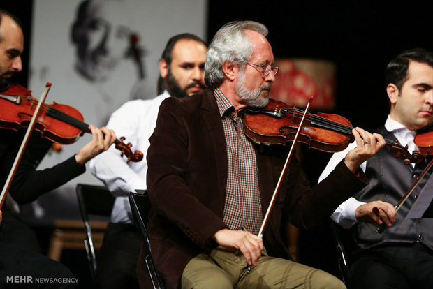
[[[161,103],[147,152],[147,188],[152,255],[168,288],[345,288],[335,276],[290,260],[281,216],[302,228],[326,220],[365,186],[359,165],[385,141],[353,129],[358,147],[313,188],[293,158],[258,237],[289,149],[260,147],[243,132],[244,109],[267,105],[278,72],[266,36],[258,22],[224,25],[207,53],[209,89]],[[138,273],[145,288],[142,258]]]

